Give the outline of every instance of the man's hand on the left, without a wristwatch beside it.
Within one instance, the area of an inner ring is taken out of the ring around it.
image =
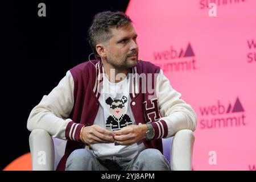
[[[98,125],[86,126],[82,129],[82,140],[86,144],[114,143],[114,133]]]

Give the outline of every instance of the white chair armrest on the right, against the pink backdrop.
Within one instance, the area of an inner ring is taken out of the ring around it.
[[[171,170],[190,171],[195,136],[192,130],[180,130],[174,136],[171,147]]]

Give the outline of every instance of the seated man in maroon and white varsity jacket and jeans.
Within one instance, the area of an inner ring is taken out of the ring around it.
[[[88,38],[97,60],[67,72],[31,111],[28,130],[68,140],[59,170],[170,170],[162,138],[195,130],[192,107],[162,69],[138,60],[127,15],[98,13]]]

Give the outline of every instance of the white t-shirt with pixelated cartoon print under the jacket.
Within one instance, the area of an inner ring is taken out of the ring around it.
[[[120,130],[122,127],[136,125],[133,112],[130,108],[130,76],[118,83],[112,83],[103,77],[102,92],[100,94],[100,107],[94,120],[94,125],[99,125],[109,131]],[[112,156],[133,159],[138,152],[146,147],[142,141],[130,146],[115,143],[91,144],[92,152],[97,158],[106,159]]]

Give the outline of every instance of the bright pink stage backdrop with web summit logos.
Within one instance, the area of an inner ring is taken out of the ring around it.
[[[139,57],[196,111],[193,170],[255,170],[256,1],[210,2],[131,0],[126,13]]]

